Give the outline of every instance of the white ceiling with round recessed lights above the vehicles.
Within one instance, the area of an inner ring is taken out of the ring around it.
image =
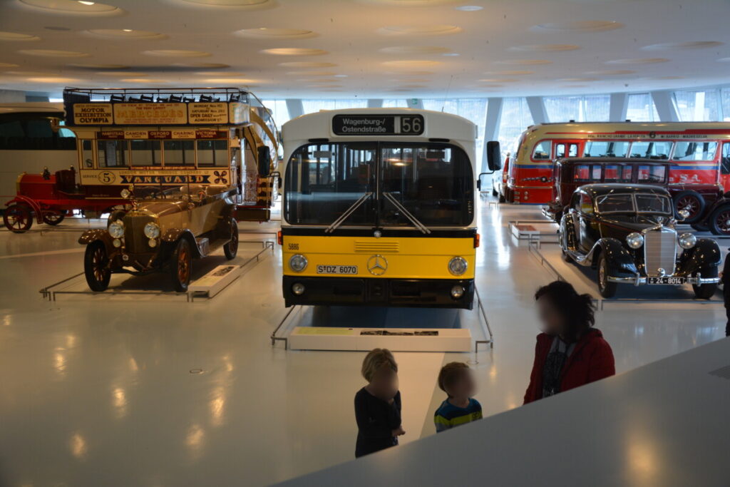
[[[526,96],[730,74],[721,0],[6,0],[0,18],[0,89],[226,80],[266,98]]]

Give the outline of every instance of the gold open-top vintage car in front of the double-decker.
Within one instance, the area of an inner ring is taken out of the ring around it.
[[[183,185],[172,189],[123,190],[131,210],[114,212],[107,229],[85,231],[84,273],[91,291],[109,287],[112,273],[169,272],[175,291],[185,292],[193,258],[223,246],[226,258],[238,251],[234,218],[237,188]]]

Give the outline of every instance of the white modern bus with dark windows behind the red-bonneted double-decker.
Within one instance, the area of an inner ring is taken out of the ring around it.
[[[76,166],[76,136],[54,129],[62,120],[63,103],[0,104],[0,207],[15,196],[20,173]]]

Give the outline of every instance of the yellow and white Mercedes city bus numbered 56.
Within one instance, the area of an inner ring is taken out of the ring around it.
[[[473,123],[426,110],[332,110],[282,133],[287,306],[472,307]]]

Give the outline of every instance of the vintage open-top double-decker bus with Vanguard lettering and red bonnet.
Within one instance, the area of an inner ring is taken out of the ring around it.
[[[20,233],[34,217],[58,224],[69,210],[95,216],[123,207],[129,186],[185,184],[236,187],[236,218],[268,220],[279,137],[251,97],[239,88],[66,88],[65,126],[55,131],[75,134],[76,164],[20,174],[5,225]]]

